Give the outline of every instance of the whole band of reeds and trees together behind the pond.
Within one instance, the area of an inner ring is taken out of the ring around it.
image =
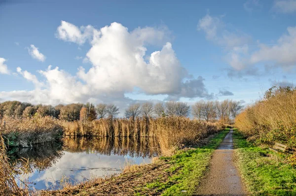
[[[161,137],[166,146],[195,142],[222,128],[239,113],[240,102],[198,101],[190,109],[184,102],[131,104],[124,117],[113,104],[32,105],[18,101],[0,103],[0,132],[7,146],[30,147],[62,136]],[[188,115],[192,114],[194,120]],[[213,123],[216,122],[216,123]],[[219,123],[217,123],[219,122]],[[210,130],[210,131],[208,131]],[[180,138],[180,139],[179,139]]]

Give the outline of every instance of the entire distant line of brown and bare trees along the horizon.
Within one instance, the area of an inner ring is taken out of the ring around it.
[[[223,120],[229,122],[242,110],[239,101],[198,101],[191,107],[185,102],[168,101],[165,103],[145,102],[129,105],[125,110],[124,117],[135,120],[138,117],[153,118],[166,116],[188,117],[190,113],[198,120],[213,121]],[[32,105],[19,101],[6,101],[0,103],[0,117],[10,116],[19,118],[31,118],[34,116],[51,116],[61,120],[95,120],[100,118],[116,118],[119,108],[114,104],[69,104],[57,105]]]

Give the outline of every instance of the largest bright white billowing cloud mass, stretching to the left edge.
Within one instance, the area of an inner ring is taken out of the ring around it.
[[[53,105],[97,100],[125,107],[132,102],[125,93],[135,89],[147,95],[177,98],[211,96],[204,79],[190,77],[181,65],[168,42],[169,31],[164,27],[136,28],[130,32],[119,23],[97,30],[90,26],[78,28],[62,21],[57,32],[57,37],[65,41],[82,44],[88,40],[91,47],[85,59],[92,67],[88,70],[79,67],[76,75],[71,75],[49,66],[39,71],[44,78],[42,89],[0,92],[0,97]],[[161,49],[147,54],[149,45],[161,45]],[[28,80],[41,83],[36,76],[18,71]]]

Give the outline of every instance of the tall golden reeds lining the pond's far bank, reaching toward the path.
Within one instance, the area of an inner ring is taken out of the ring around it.
[[[184,117],[136,118],[135,120],[99,119],[94,121],[63,121],[68,136],[155,137],[162,153],[172,147],[194,144],[222,130],[222,123],[203,122]],[[124,140],[124,139],[123,139]]]

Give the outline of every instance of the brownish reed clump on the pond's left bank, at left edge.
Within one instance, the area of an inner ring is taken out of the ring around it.
[[[0,132],[3,134],[4,141],[9,147],[30,147],[33,144],[60,139],[63,127],[58,119],[52,117],[4,117],[1,119]]]

